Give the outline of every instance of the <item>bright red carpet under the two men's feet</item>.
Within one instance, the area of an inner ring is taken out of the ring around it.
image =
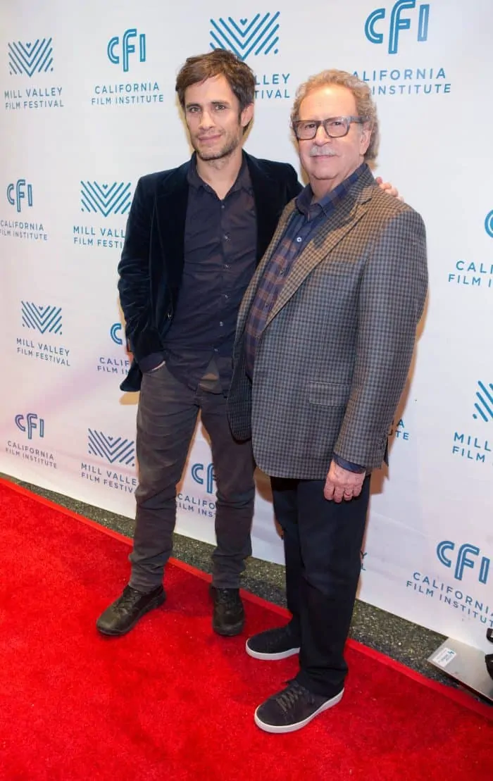
[[[175,562],[163,608],[105,639],[95,618],[126,583],[127,541],[3,481],[0,511],[2,781],[491,778],[493,708],[353,642],[341,704],[261,732],[253,711],[295,659],[214,635],[206,576]],[[284,621],[246,608],[248,633]]]

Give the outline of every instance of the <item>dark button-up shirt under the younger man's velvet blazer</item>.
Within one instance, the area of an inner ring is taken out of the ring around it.
[[[256,262],[255,201],[244,159],[238,178],[221,201],[197,173],[188,172],[184,271],[173,323],[166,334],[166,366],[195,390],[210,365],[227,390],[241,298]]]

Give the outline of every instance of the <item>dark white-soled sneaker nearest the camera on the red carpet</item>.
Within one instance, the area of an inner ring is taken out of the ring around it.
[[[344,689],[335,697],[321,697],[305,689],[297,680],[259,705],[255,711],[255,724],[270,733],[295,732],[309,724],[319,713],[327,711],[341,701]]]

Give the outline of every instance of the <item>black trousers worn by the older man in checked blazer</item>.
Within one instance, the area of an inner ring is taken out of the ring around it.
[[[286,595],[299,637],[297,679],[333,697],[344,686],[343,651],[361,572],[370,476],[359,497],[337,504],[323,497],[324,480],[271,478],[284,532]]]

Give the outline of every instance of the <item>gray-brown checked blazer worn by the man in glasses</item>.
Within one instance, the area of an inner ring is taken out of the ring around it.
[[[241,304],[228,415],[264,472],[323,480],[334,452],[366,469],[383,461],[427,294],[426,235],[420,215],[364,172],[295,261],[250,383],[245,322],[294,209],[284,209]]]

